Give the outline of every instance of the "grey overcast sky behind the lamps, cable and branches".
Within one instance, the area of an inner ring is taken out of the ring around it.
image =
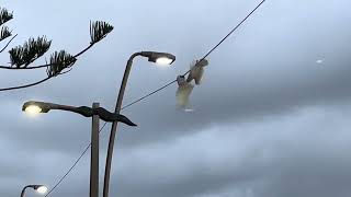
[[[12,47],[46,35],[50,51],[75,54],[90,42],[90,20],[115,27],[71,72],[0,92],[1,196],[16,197],[27,184],[53,187],[90,140],[89,118],[29,117],[21,112],[25,101],[100,102],[112,111],[133,53],[174,54],[168,69],[134,61],[128,104],[186,71],[259,2],[1,0],[14,14]],[[190,97],[194,112],[177,109],[176,84],[123,111],[138,127],[118,129],[110,196],[349,197],[350,7],[348,0],[267,0],[208,57]],[[0,60],[8,62],[8,53]],[[0,88],[45,77],[45,69],[0,70]],[[110,127],[101,134],[101,179]],[[50,196],[88,196],[89,161],[83,157]]]

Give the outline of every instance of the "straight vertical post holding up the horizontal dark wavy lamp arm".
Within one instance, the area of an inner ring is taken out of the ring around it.
[[[92,109],[97,109],[99,107],[99,103],[92,104]],[[99,197],[99,115],[92,116],[90,153],[90,197]]]

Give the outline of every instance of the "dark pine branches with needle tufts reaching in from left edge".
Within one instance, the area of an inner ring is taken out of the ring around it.
[[[9,51],[11,66],[0,66],[0,69],[23,70],[23,69],[46,68],[47,78],[31,84],[0,89],[0,92],[34,86],[47,81],[50,78],[71,71],[71,67],[76,63],[77,58],[82,54],[84,54],[87,50],[89,50],[94,44],[102,40],[109,33],[112,32],[112,30],[113,30],[113,26],[106,22],[102,22],[102,21],[90,22],[91,40],[90,40],[90,45],[87,48],[84,48],[83,50],[81,50],[75,56],[67,54],[65,50],[55,51],[50,56],[49,63],[41,65],[41,66],[32,66],[32,67],[30,65],[48,50],[52,42],[50,40],[48,42],[45,36],[38,37],[36,40],[34,38],[30,38],[29,42],[24,43],[23,46],[14,47]],[[8,43],[8,45],[11,43],[11,40]],[[67,68],[70,68],[70,69],[68,71],[63,71]]]

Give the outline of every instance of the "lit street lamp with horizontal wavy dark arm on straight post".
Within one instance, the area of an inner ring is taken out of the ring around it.
[[[91,163],[90,163],[90,197],[99,196],[99,119],[104,121],[122,121],[128,126],[136,126],[127,117],[111,113],[93,103],[92,107],[88,106],[68,106],[54,103],[30,101],[23,104],[22,111],[30,114],[48,113],[52,109],[68,111],[80,114],[84,117],[92,117],[91,129]]]

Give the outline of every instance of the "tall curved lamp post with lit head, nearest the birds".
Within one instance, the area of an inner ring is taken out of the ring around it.
[[[122,107],[122,101],[126,88],[126,83],[129,77],[131,68],[133,65],[133,59],[137,56],[148,58],[148,61],[155,62],[158,65],[171,65],[176,61],[176,56],[167,53],[156,53],[156,51],[139,51],[133,54],[126,65],[122,84],[118,92],[118,97],[115,106],[115,113],[118,114]],[[109,148],[107,148],[107,155],[106,155],[106,163],[105,163],[105,174],[104,174],[104,182],[103,182],[103,197],[109,197],[109,188],[110,188],[110,175],[111,175],[111,163],[112,163],[112,155],[113,155],[113,147],[114,140],[117,129],[117,121],[113,121],[111,127],[110,140],[109,140]]]

